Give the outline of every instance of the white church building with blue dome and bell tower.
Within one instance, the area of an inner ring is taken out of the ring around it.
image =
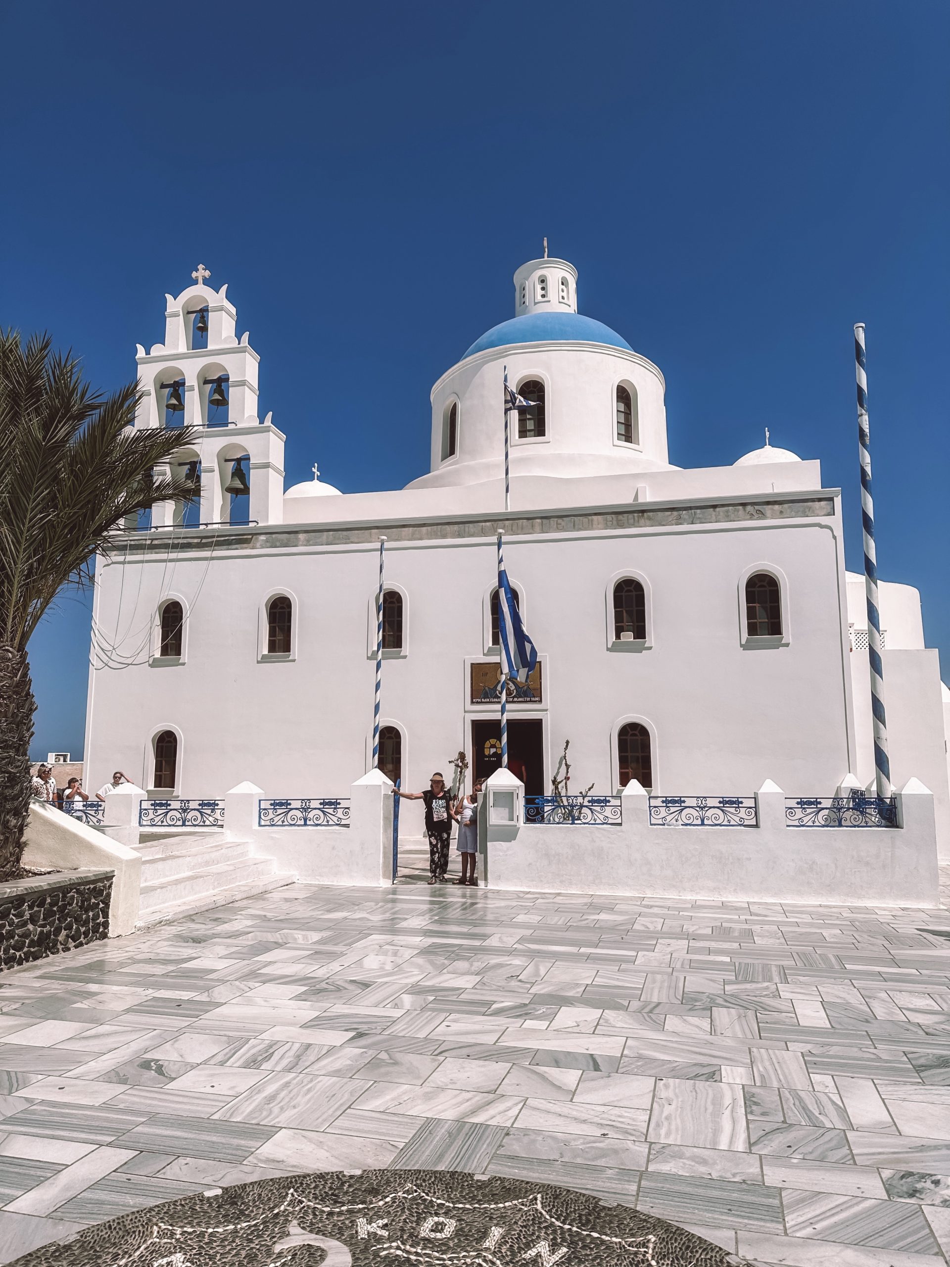
[[[828,797],[849,774],[873,782],[864,579],[845,570],[840,490],[768,442],[673,466],[660,367],[578,312],[570,264],[522,265],[514,315],[434,384],[429,470],[352,494],[317,468],[284,488],[258,356],[209,276],[166,295],[163,341],[138,347],[136,426],[200,428],[176,459],[200,502],[156,507],[98,560],[91,787],[122,769],[149,796],[242,780],[346,796],[371,764],[381,536],[380,765],[414,791],[451,777],[459,751],[490,774],[499,531],[540,653],[508,704],[526,794],[550,791],[566,740],[571,791],[746,796],[771,779]],[[533,402],[512,416],[508,512],[505,367]],[[950,697],[917,590],[883,583],[880,608],[893,782],[931,789],[950,855]],[[403,806],[407,834],[417,810]]]

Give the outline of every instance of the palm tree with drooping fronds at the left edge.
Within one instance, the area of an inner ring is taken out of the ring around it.
[[[19,872],[29,813],[30,635],[63,585],[90,582],[92,556],[127,516],[196,495],[152,478],[194,432],[134,431],[138,399],[134,383],[94,392],[48,336],[24,346],[0,329],[0,881]]]

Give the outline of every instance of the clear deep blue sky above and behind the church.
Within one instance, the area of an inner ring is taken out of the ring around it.
[[[547,234],[662,369],[671,461],[769,426],[844,487],[860,569],[864,321],[880,571],[950,651],[946,0],[33,0],[0,41],[0,322],[95,384],[134,376],[203,261],[289,483],[317,459],[399,487],[429,386]],[[65,597],[34,637],[34,753],[82,749],[87,627]]]

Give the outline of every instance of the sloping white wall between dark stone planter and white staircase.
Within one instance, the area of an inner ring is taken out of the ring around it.
[[[137,791],[142,794],[141,789]],[[24,867],[65,872],[87,867],[114,870],[109,936],[132,933],[138,920],[142,883],[142,858],[134,849],[43,801],[30,803],[25,840]]]

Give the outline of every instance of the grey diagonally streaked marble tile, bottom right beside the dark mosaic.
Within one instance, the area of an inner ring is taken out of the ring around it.
[[[782,1206],[790,1237],[842,1240],[917,1254],[934,1254],[939,1248],[927,1220],[915,1205],[785,1188]]]

